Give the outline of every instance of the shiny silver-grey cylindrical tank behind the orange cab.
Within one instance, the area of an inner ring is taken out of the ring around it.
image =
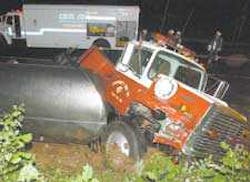
[[[92,79],[73,67],[0,63],[0,108],[20,103],[34,138],[83,143],[106,124]]]

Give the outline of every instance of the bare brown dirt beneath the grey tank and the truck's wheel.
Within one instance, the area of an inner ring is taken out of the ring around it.
[[[38,167],[45,173],[51,169],[64,174],[77,174],[86,164],[97,171],[105,171],[107,168],[115,168],[115,171],[133,171],[134,161],[117,150],[112,149],[105,154],[102,151],[94,152],[86,145],[33,142],[30,152],[34,154]],[[154,152],[157,150],[149,148],[146,156]]]

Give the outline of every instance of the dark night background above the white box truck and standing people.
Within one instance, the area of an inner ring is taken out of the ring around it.
[[[21,0],[0,2],[0,11],[21,4]],[[215,29],[220,29],[226,42],[250,44],[250,0],[25,0],[25,3],[140,5],[140,27],[152,31],[161,28],[167,2],[169,7],[163,30],[182,30],[192,14],[185,28],[185,38],[208,39]]]

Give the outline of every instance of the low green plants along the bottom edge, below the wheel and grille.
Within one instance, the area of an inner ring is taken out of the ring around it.
[[[225,143],[222,147],[227,150],[225,157],[219,163],[211,158],[188,161],[181,159],[176,164],[164,153],[148,154],[145,161],[139,161],[133,166],[126,166],[123,170],[109,166],[104,171],[93,172],[88,164],[83,172],[76,177],[65,178],[58,172],[53,182],[249,182],[250,154],[244,150],[231,150]],[[133,170],[131,170],[133,169]]]

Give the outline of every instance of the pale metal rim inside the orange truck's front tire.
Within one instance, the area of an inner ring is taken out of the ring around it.
[[[130,147],[128,139],[121,132],[112,132],[107,140],[107,149],[110,150],[111,145],[115,145],[119,148],[121,153],[129,156]]]

